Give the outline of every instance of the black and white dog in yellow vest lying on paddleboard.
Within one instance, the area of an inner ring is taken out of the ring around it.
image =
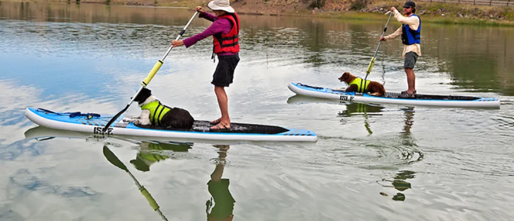
[[[141,108],[141,115],[130,121],[136,125],[158,125],[179,130],[190,130],[194,118],[185,109],[168,107],[152,95],[152,91],[143,87],[134,99]]]

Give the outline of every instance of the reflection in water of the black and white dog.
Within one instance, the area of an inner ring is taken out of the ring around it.
[[[156,162],[166,160],[171,155],[163,154],[162,151],[187,152],[191,149],[192,143],[178,142],[148,142],[141,141],[139,143],[141,149],[137,153],[136,158],[130,162],[139,171],[150,171],[150,166]]]

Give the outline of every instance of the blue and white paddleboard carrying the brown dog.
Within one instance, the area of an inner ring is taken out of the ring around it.
[[[386,93],[386,95],[380,97],[365,93],[345,92],[342,89],[338,90],[292,82],[289,83],[287,87],[298,95],[338,100],[344,103],[363,102],[444,107],[500,107],[500,100],[496,98],[420,94],[416,95],[415,98],[401,98],[400,93]]]

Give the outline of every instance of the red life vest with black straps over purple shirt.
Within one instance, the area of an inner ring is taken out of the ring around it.
[[[228,19],[232,23],[232,29],[227,34],[219,32],[212,35],[214,37],[214,53],[239,52],[239,17],[236,13],[227,13],[218,16],[218,19]]]

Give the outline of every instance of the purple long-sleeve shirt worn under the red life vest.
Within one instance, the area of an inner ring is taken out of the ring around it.
[[[207,29],[205,29],[203,32],[196,34],[194,36],[191,36],[187,39],[184,39],[184,46],[186,48],[189,48],[191,45],[194,45],[196,42],[203,40],[207,38],[208,36],[211,36],[213,34],[222,32],[223,34],[228,34],[230,30],[232,29],[232,24],[228,19],[217,19],[218,17],[213,14],[209,14],[207,12],[201,13],[198,17],[203,17],[204,19],[207,19],[212,22],[212,25],[209,26]],[[218,56],[231,56],[236,53],[232,52],[221,52],[217,53]]]

